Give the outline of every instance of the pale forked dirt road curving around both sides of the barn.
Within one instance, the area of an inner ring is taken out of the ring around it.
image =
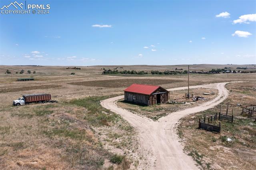
[[[117,107],[116,101],[124,96],[113,97],[101,102],[106,109],[122,115],[133,127],[138,129],[142,154],[148,158],[147,169],[172,170],[172,169],[198,169],[192,157],[183,152],[176,126],[182,117],[210,109],[228,97],[228,90],[225,88],[227,83],[214,83],[209,85],[198,85],[190,88],[212,88],[218,89],[219,93],[216,98],[200,106],[192,107],[182,111],[170,113],[166,117],[160,118],[157,122],[146,117],[141,117]],[[187,89],[187,87],[178,87],[168,89],[169,91]],[[145,167],[144,167],[145,168]]]

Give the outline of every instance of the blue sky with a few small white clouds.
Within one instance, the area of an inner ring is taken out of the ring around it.
[[[49,4],[49,14],[1,12],[0,65],[256,64],[255,0],[26,4]]]

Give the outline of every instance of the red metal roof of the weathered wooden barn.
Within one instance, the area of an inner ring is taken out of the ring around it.
[[[140,93],[140,94],[144,94],[144,95],[150,95],[151,93],[156,91],[156,89],[158,89],[159,87],[160,86],[156,86],[156,85],[132,84],[129,87],[127,87],[126,89],[124,89],[124,91],[132,92],[132,93]]]

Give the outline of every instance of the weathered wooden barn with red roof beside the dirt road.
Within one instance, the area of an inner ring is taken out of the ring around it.
[[[155,105],[166,103],[169,91],[156,85],[132,84],[124,90],[124,101],[138,105]]]

